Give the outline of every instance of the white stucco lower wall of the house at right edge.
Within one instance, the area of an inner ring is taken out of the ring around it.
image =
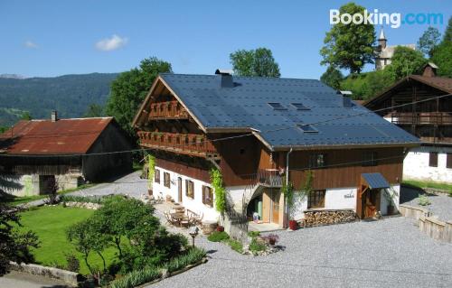
[[[447,154],[434,147],[410,151],[403,161],[403,179],[452,183],[452,169],[446,168]],[[428,166],[429,152],[438,152],[438,167]]]

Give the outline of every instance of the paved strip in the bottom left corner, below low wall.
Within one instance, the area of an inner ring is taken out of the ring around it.
[[[0,287],[2,288],[66,288],[64,283],[49,278],[11,272],[0,277]]]

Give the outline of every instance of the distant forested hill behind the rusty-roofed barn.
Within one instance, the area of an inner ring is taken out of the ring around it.
[[[53,78],[0,78],[0,126],[14,124],[28,111],[33,119],[80,117],[90,104],[105,105],[118,73],[64,75]]]

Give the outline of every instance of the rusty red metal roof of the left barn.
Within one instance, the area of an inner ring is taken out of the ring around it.
[[[113,117],[19,121],[0,135],[7,154],[87,153]]]

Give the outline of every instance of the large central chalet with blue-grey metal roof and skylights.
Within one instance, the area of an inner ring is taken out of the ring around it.
[[[296,218],[305,209],[384,214],[381,189],[391,185],[399,204],[404,153],[418,145],[318,80],[235,77],[221,70],[159,75],[133,126],[156,158],[155,196],[217,219],[209,178],[217,167],[235,211],[247,208],[248,216],[258,213],[280,227],[287,221],[281,185],[291,181],[299,189],[308,170],[314,192],[298,203]],[[372,177],[380,184],[369,183]]]

